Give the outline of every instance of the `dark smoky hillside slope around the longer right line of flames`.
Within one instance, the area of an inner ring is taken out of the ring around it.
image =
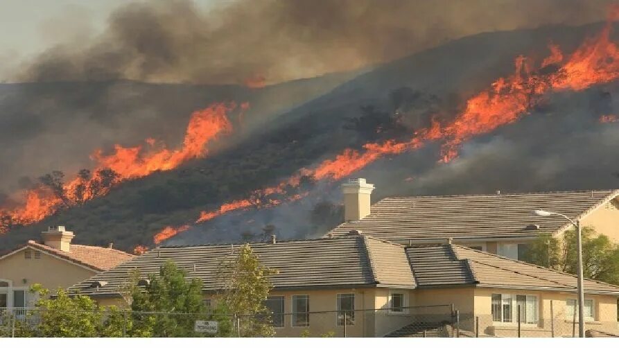
[[[78,243],[113,241],[127,250],[151,245],[152,236],[164,227],[191,223],[202,210],[245,198],[345,148],[410,137],[429,127],[433,117],[453,118],[467,98],[512,73],[516,56],[541,60],[548,55],[549,41],[570,52],[599,30],[600,25],[549,26],[484,33],[384,64],[308,103],[261,118],[255,132],[216,155],[127,182],[104,198],[15,229],[0,241],[14,245],[35,238],[46,225],[67,225]],[[618,88],[613,82],[548,95],[518,122],[464,143],[460,157],[448,164],[437,163],[439,146],[430,143],[379,159],[354,176],[376,184],[374,200],[386,195],[619,186],[619,123],[599,122],[600,116],[619,110],[613,98]],[[227,214],[166,243],[232,241],[252,234],[259,238],[265,225],[274,225],[284,238],[320,234],[340,218],[337,184],[310,183],[310,193],[302,200]]]

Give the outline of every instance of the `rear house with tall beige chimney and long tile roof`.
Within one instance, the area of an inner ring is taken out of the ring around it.
[[[532,210],[543,209],[579,219],[583,227],[619,242],[619,190],[414,196],[370,205],[373,190],[363,178],[343,184],[345,223],[329,234],[357,229],[404,245],[453,238],[460,245],[522,260],[537,236],[573,228],[560,216],[532,216]]]

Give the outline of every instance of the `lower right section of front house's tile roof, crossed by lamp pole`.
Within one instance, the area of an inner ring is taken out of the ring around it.
[[[469,285],[572,291],[576,277],[503,256],[444,244],[407,247],[417,286]],[[586,293],[619,294],[619,286],[585,279]]]

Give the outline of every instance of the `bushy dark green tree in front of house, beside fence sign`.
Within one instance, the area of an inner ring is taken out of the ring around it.
[[[159,269],[158,275],[148,275],[148,286],[132,287],[132,337],[196,337],[195,320],[220,322],[218,336],[229,336],[229,317],[222,315],[225,308],[218,306],[207,313],[200,279],[186,280],[186,272],[172,261]]]

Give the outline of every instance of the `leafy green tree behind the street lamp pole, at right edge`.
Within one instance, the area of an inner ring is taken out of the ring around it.
[[[570,229],[561,238],[540,236],[525,254],[527,261],[561,272],[577,273],[576,231]],[[619,284],[619,245],[591,227],[582,229],[584,277]]]

